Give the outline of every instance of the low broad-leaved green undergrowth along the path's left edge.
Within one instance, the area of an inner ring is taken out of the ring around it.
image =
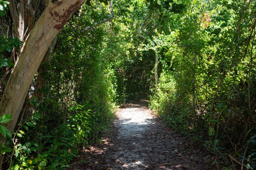
[[[51,124],[38,108],[20,120],[12,138],[8,136],[9,147],[0,146],[1,153],[9,157],[12,170],[65,169],[80,150],[100,142],[112,122],[112,111],[103,116],[81,105],[72,106],[65,122]]]

